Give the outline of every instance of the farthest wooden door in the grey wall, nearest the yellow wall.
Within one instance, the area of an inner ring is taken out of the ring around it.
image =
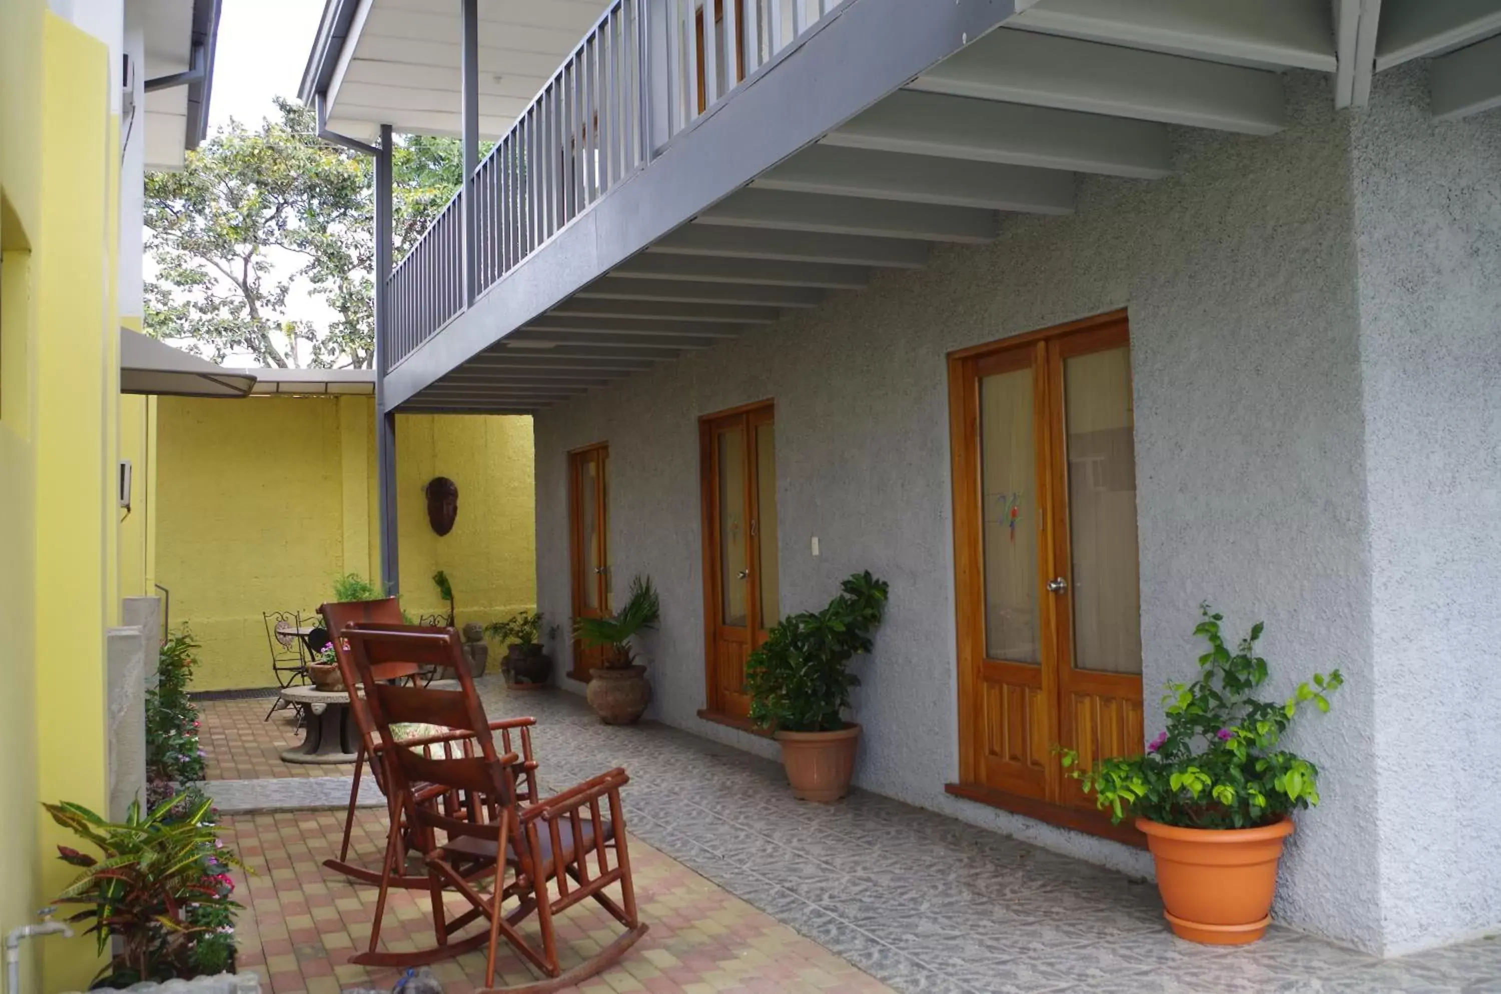
[[[573,616],[609,613],[609,447],[588,445],[569,453],[569,561],[573,580]],[[588,681],[590,669],[603,664],[605,646],[573,640],[573,679]]]

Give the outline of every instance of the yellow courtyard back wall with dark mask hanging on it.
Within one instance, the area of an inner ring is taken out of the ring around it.
[[[263,612],[312,613],[341,573],[375,579],[374,418],[369,397],[158,400],[156,582],[203,643],[198,690],[269,685]],[[401,417],[396,450],[402,606],[438,612],[441,568],[461,622],[531,607],[531,420]],[[459,484],[444,538],[422,496],[434,475]]]

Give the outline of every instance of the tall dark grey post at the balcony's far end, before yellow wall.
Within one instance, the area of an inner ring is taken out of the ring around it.
[[[375,493],[380,510],[380,579],[386,594],[401,592],[396,558],[396,412],[386,409],[390,372],[392,151],[390,124],[380,127],[375,150]]]

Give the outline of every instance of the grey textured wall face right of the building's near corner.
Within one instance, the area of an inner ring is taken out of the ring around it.
[[[1501,922],[1501,112],[1435,124],[1421,69],[1354,127],[1382,928]]]

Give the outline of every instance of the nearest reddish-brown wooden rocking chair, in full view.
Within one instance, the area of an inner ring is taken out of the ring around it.
[[[525,963],[545,975],[542,981],[506,988],[513,994],[557,991],[618,961],[647,933],[636,912],[620,804],[620,787],[629,781],[626,771],[617,768],[546,801],[524,804],[515,783],[519,757],[497,751],[488,735],[489,721],[464,664],[456,633],[353,625],[345,630],[345,637],[371,720],[383,739],[390,741],[392,724],[425,723],[470,732],[477,744],[477,754],[458,757],[426,756],[411,748],[383,751],[386,775],[401,817],[417,844],[426,850],[438,949],[458,955],[474,948],[474,937],[456,943],[450,940],[471,922],[488,921],[488,934],[479,936],[489,942],[486,990],[494,990],[501,937]],[[389,660],[431,663],[452,670],[459,690],[381,684],[375,676],[377,667]],[[438,805],[422,804],[425,789],[461,798],[462,817],[453,817]],[[440,834],[444,841],[438,841]],[[371,924],[369,951],[357,954],[351,963],[407,967],[431,961],[425,954],[378,952],[381,918],[395,876],[395,856],[402,846],[401,835],[402,826],[393,822],[387,838],[386,874]],[[476,867],[488,867],[489,874]],[[488,894],[477,888],[485,879],[491,882]],[[617,883],[618,903],[605,894],[606,888]],[[470,904],[467,912],[453,919],[447,918],[443,904],[447,891],[459,894]],[[585,898],[593,898],[624,931],[597,955],[564,972],[558,963],[554,916]],[[506,910],[503,904],[510,900],[516,904]],[[540,948],[528,942],[519,928],[531,915],[537,916]]]

